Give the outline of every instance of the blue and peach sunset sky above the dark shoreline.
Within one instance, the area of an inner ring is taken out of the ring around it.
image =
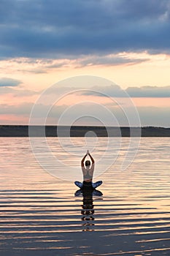
[[[42,91],[93,75],[112,81],[110,97],[129,94],[142,126],[170,127],[169,0],[1,0],[0,34],[0,124],[28,124]],[[110,104],[101,98],[81,95]],[[58,102],[49,124],[74,102]]]

